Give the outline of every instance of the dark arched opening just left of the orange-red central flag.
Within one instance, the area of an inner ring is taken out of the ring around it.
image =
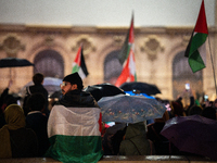
[[[123,66],[117,58],[119,50],[110,52],[104,60],[104,82],[115,84]]]

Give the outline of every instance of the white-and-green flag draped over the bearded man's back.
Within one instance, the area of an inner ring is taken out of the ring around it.
[[[64,163],[97,163],[103,155],[99,108],[54,105],[48,121],[46,156]]]

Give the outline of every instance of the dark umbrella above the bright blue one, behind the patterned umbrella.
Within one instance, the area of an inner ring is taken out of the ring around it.
[[[139,90],[148,96],[161,93],[159,89],[155,85],[141,82],[124,83],[122,86],[119,86],[119,88],[122,88],[124,91]]]

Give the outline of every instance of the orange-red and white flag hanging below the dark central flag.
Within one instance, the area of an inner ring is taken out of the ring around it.
[[[122,84],[126,82],[135,82],[135,80],[137,80],[135,54],[133,51],[130,49],[127,62],[123,68],[122,74],[117,78],[115,86],[119,87]]]

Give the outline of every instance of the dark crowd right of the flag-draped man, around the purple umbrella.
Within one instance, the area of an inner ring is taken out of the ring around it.
[[[180,151],[175,145],[173,145],[173,142],[161,134],[165,123],[173,117],[200,115],[213,121],[217,120],[217,100],[207,100],[200,104],[194,100],[191,92],[189,98],[190,104],[186,106],[182,103],[182,97],[173,101],[156,98],[156,100],[161,101],[168,108],[162,118],[154,118],[137,124],[128,124],[128,126],[127,124],[118,123],[112,127],[105,128],[103,134],[104,153],[107,155],[199,155]],[[122,127],[119,128],[118,126],[120,125]],[[136,128],[132,129],[132,126],[140,128],[138,129],[139,133]]]

